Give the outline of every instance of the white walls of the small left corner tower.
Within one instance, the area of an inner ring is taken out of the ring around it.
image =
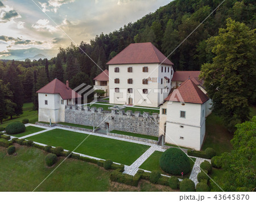
[[[38,121],[58,123],[65,121],[65,105],[73,104],[73,99],[63,100],[60,94],[38,94]]]

